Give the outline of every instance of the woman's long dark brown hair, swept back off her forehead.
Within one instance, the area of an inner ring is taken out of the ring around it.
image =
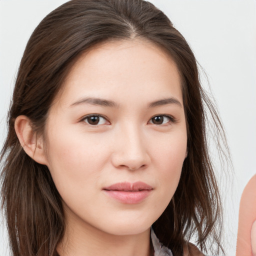
[[[8,114],[2,207],[14,256],[54,255],[65,225],[61,197],[47,166],[32,160],[14,130],[26,115],[42,133],[51,103],[76,59],[106,40],[140,37],[161,47],[175,61],[182,80],[187,122],[187,152],[178,187],[169,205],[153,223],[160,241],[173,254],[193,236],[207,252],[207,242],[222,251],[221,204],[206,141],[206,112],[222,126],[204,93],[194,55],[167,16],[143,0],[71,0],[49,13],[33,31],[20,62]]]

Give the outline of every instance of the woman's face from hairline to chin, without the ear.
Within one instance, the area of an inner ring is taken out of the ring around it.
[[[186,155],[175,63],[138,39],[89,50],[51,106],[45,136],[67,225],[146,230],[173,196]]]

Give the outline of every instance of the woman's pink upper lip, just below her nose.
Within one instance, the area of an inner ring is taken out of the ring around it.
[[[104,190],[136,192],[136,191],[141,191],[141,190],[151,190],[153,188],[144,182],[137,181],[134,183],[119,182],[119,183],[115,183],[110,186],[104,187],[103,189]]]

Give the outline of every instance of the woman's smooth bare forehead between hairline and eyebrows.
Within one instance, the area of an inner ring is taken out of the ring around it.
[[[107,98],[113,92],[119,92],[115,96],[120,101],[136,95],[140,99],[141,95],[164,97],[166,93],[182,101],[175,62],[160,47],[143,39],[108,41],[84,52],[71,67],[59,99],[69,101],[77,94],[90,93]]]

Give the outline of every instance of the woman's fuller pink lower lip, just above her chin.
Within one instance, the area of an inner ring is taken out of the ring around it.
[[[107,195],[122,203],[134,204],[139,203],[145,199],[151,190],[132,191],[118,191],[118,190],[104,190]]]

